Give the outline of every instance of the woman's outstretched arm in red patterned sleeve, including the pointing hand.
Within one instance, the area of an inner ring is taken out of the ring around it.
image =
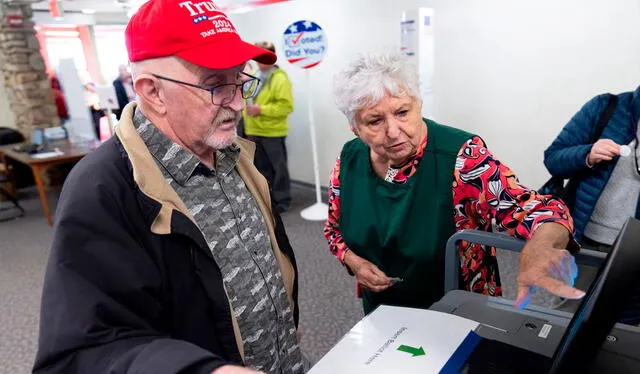
[[[577,268],[565,248],[579,246],[564,203],[521,185],[479,137],[460,149],[453,194],[456,229],[496,230],[528,241],[520,255],[515,306],[526,306],[536,287],[570,299],[584,296],[571,287]]]

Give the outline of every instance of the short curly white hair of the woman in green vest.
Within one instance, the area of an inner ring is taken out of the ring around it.
[[[386,93],[422,102],[418,70],[401,53],[363,54],[333,79],[336,104],[351,125],[359,110],[376,105]]]

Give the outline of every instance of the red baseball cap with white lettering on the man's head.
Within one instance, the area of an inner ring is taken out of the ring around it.
[[[129,20],[125,42],[131,62],[178,56],[223,70],[249,60],[268,65],[277,60],[271,51],[240,39],[212,1],[149,0]]]

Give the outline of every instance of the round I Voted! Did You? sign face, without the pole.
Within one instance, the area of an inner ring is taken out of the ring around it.
[[[317,66],[327,53],[327,37],[317,23],[294,22],[284,32],[284,55],[289,63],[310,69]]]

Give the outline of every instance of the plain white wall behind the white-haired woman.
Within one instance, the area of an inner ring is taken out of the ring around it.
[[[436,120],[481,135],[526,184],[547,178],[542,153],[584,102],[640,84],[638,0],[298,0],[232,15],[248,41],[279,46],[285,27],[299,19],[327,34],[327,57],[311,71],[309,89],[304,72],[280,60],[296,98],[292,178],[313,181],[307,95],[326,185],[352,137],[333,103],[333,75],[360,52],[397,50],[402,11],[417,7],[435,9]]]

